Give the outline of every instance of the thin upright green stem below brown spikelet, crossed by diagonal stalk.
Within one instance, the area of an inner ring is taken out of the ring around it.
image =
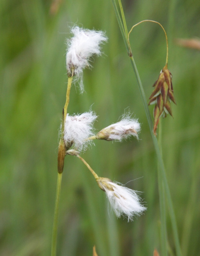
[[[159,137],[158,144],[162,153],[162,125],[159,121]],[[159,207],[160,207],[160,235],[161,235],[161,255],[167,256],[167,227],[166,227],[166,209],[165,209],[165,188],[160,173],[160,165],[158,162],[158,189],[159,189]]]

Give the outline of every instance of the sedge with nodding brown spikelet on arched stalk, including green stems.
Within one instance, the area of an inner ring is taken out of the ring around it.
[[[156,129],[157,129],[157,126],[159,123],[160,116],[162,116],[164,114],[164,117],[165,117],[167,113],[172,115],[170,101],[172,100],[175,103],[174,92],[173,92],[172,81],[171,81],[172,76],[171,76],[170,71],[167,68],[167,64],[168,64],[167,34],[166,34],[166,31],[163,28],[163,26],[159,22],[154,21],[154,20],[140,21],[139,23],[137,23],[136,25],[134,25],[131,28],[130,32],[128,32],[121,0],[118,0],[121,15],[118,12],[118,7],[116,5],[115,0],[112,0],[112,3],[113,3],[114,10],[115,10],[116,18],[117,18],[117,21],[119,24],[119,28],[122,33],[124,44],[127,49],[128,55],[130,57],[130,62],[133,67],[134,73],[136,75],[137,84],[139,87],[140,94],[142,96],[146,117],[148,120],[153,144],[154,144],[157,159],[158,159],[158,184],[159,184],[159,204],[160,204],[160,219],[161,219],[161,251],[162,251],[161,255],[167,256],[168,242],[167,242],[167,227],[166,227],[166,212],[165,212],[166,211],[165,210],[165,198],[166,198],[167,202],[168,202],[168,206],[169,206],[169,215],[170,215],[171,223],[172,223],[176,255],[181,256],[181,248],[180,248],[178,230],[177,230],[176,219],[175,219],[175,214],[174,214],[174,207],[173,207],[172,198],[171,198],[170,191],[169,191],[169,186],[167,183],[165,166],[164,166],[164,162],[163,162],[162,154],[161,154],[161,141],[160,141],[161,136],[159,136],[159,142],[156,138]],[[154,90],[157,90],[157,92],[155,94],[152,93],[152,95],[150,96],[150,103],[153,102],[154,104],[156,104],[154,107],[154,124],[152,124],[151,114],[150,114],[150,111],[149,111],[149,108],[148,108],[148,105],[146,102],[146,97],[145,97],[145,93],[144,93],[144,89],[143,89],[143,86],[141,83],[139,73],[137,71],[137,66],[133,59],[133,53],[132,53],[130,41],[129,41],[129,36],[130,36],[132,29],[142,22],[154,22],[154,23],[159,24],[159,26],[161,26],[161,28],[163,29],[163,31],[165,33],[166,42],[167,42],[166,65],[161,70],[159,78],[156,81],[156,83],[154,84],[154,86],[156,88]],[[152,100],[152,97],[155,97],[155,98]],[[159,135],[161,135],[161,131],[159,131]]]

